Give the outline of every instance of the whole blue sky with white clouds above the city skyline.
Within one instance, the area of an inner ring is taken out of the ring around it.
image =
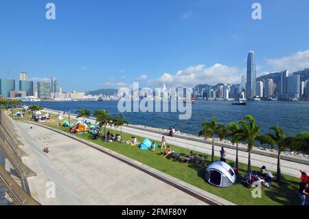
[[[45,5],[56,5],[56,20]],[[251,5],[262,5],[253,20]],[[296,3],[297,2],[297,3]],[[65,91],[238,82],[309,67],[308,0],[1,1],[0,78],[56,76]]]

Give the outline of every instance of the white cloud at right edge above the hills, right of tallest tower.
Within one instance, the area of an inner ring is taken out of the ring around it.
[[[282,58],[270,58],[266,63],[277,71],[284,69],[290,69],[290,72],[299,71],[309,67],[309,50],[297,51],[291,56]]]

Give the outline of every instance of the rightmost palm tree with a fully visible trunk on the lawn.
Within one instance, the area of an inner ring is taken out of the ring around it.
[[[275,148],[275,145],[278,147],[278,157],[277,157],[277,182],[281,181],[281,167],[280,167],[280,155],[283,150],[287,147],[287,137],[284,133],[284,130],[279,128],[279,126],[273,126],[269,128],[273,130],[274,133],[268,133],[266,135],[261,135],[259,137],[260,143],[268,143],[271,145],[271,148]]]

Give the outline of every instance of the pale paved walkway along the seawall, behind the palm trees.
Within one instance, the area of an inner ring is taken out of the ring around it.
[[[55,113],[54,111],[45,110],[49,113]],[[67,115],[66,115],[67,116]],[[72,118],[75,118],[71,115]],[[95,120],[89,119],[91,122],[95,123]],[[119,130],[119,128],[115,128]],[[147,137],[150,139],[154,139],[157,141],[161,141],[161,134],[156,132],[151,132],[150,130],[139,130],[137,128],[123,126],[122,130],[127,132],[131,135],[138,135],[141,137]],[[187,148],[190,150],[194,150],[195,152],[203,152],[205,154],[211,154],[211,144],[202,143],[198,141],[192,141],[188,139],[182,139],[178,137],[165,137],[167,139],[168,144],[172,144],[175,146],[179,146],[182,148]],[[215,155],[220,157],[220,146],[215,146]],[[236,159],[236,150],[225,148],[227,151],[227,159],[235,160]],[[248,153],[245,151],[239,151],[239,161],[240,163],[247,163],[248,162]],[[262,165],[266,165],[266,168],[271,171],[277,170],[277,159],[275,157],[268,157],[260,154],[253,154],[251,153],[251,164],[257,167],[262,167]],[[281,168],[283,174],[288,174],[290,176],[300,177],[299,170],[304,170],[305,172],[309,173],[309,165],[295,163],[292,161],[281,161]]]

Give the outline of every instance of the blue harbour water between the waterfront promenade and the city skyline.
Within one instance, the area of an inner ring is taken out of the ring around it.
[[[111,115],[119,115],[117,101],[102,102],[24,102],[25,105],[40,104],[45,108],[76,113],[84,107],[91,113],[98,109],[106,109]],[[203,121],[218,117],[218,122],[229,124],[243,119],[245,115],[253,115],[262,132],[279,124],[286,135],[297,135],[299,132],[309,132],[309,102],[248,102],[247,106],[232,105],[226,101],[198,100],[192,104],[192,117],[189,120],[179,120],[179,113],[124,113],[130,124],[169,128],[190,134],[198,134]]]

